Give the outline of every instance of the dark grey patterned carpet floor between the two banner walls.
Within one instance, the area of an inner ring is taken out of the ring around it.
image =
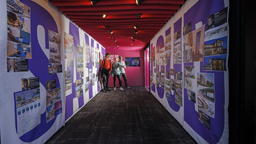
[[[145,87],[97,94],[46,143],[196,143]]]

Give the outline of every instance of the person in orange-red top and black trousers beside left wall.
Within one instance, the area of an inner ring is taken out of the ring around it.
[[[110,78],[110,71],[112,71],[112,64],[110,60],[110,53],[105,54],[105,59],[102,60],[102,63],[100,65],[101,69],[101,75],[103,78],[103,92],[106,93],[106,91],[110,92],[111,90],[108,89],[108,79]]]

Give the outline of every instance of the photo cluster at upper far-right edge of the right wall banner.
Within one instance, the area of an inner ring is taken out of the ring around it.
[[[204,36],[204,70],[226,71],[228,7],[209,15]]]

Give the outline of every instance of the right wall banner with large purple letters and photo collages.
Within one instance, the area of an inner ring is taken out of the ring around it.
[[[229,1],[186,1],[150,42],[151,93],[198,143],[228,143]]]

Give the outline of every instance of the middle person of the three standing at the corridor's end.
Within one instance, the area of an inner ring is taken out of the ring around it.
[[[113,79],[114,79],[114,90],[116,90],[116,77],[118,77],[119,90],[124,90],[124,89],[122,89],[122,82],[121,82],[119,67],[122,67],[122,66],[119,65],[118,58],[114,58],[114,62],[112,63],[112,72],[111,72]]]

